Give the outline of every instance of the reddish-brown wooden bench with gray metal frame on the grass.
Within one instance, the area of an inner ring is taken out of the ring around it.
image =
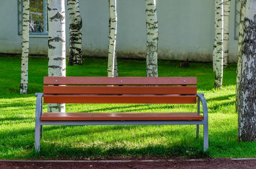
[[[43,125],[203,125],[208,149],[208,109],[197,93],[196,77],[44,77],[36,93],[35,149],[40,151]],[[43,103],[197,103],[195,112],[44,112]],[[202,103],[202,104],[200,104]],[[202,105],[202,114],[200,114]]]

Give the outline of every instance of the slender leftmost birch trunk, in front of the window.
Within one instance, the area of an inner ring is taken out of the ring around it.
[[[29,0],[23,0],[20,94],[27,94],[29,62]]]

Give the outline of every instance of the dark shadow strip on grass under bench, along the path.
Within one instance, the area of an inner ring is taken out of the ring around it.
[[[192,145],[191,145],[192,144]],[[90,145],[89,147],[74,147],[71,144],[45,144],[41,145],[40,152],[36,154],[36,158],[42,159],[50,156],[56,160],[81,160],[81,159],[99,159],[99,158],[141,158],[141,157],[159,157],[159,158],[207,158],[209,152],[203,152],[201,147],[193,145],[191,142],[175,143],[168,145],[147,145],[142,148],[131,148],[124,146],[104,147],[100,145]]]

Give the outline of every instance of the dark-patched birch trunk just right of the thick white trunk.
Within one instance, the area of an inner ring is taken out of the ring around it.
[[[68,64],[82,65],[82,18],[79,10],[79,0],[67,0],[70,16],[70,53]]]

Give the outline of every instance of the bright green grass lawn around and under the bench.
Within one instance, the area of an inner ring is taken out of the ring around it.
[[[43,91],[48,59],[29,58],[29,94],[20,95],[20,58],[0,57],[0,159],[98,159],[128,157],[244,158],[256,157],[256,143],[237,141],[236,64],[224,70],[223,88],[214,90],[211,63],[159,61],[159,77],[196,76],[209,108],[209,149],[203,152],[202,127],[194,125],[44,126],[40,153],[34,151],[34,92]],[[67,76],[106,76],[107,59],[85,58],[83,66],[67,66]],[[119,76],[146,76],[145,61],[118,60]],[[44,105],[46,111],[46,105]],[[78,112],[175,112],[195,105],[67,104]]]

